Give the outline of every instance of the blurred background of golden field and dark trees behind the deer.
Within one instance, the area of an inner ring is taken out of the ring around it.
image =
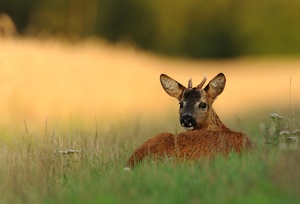
[[[174,129],[178,105],[161,73],[186,85],[223,72],[214,106],[232,126],[297,113],[299,9],[294,0],[0,0],[1,125],[168,116]]]

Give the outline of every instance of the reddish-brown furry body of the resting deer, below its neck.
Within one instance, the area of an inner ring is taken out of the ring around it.
[[[240,153],[252,148],[251,140],[239,132],[195,130],[177,135],[161,133],[136,149],[128,159],[127,167],[133,168],[147,156],[153,159],[212,159],[218,153],[227,155],[231,151]]]

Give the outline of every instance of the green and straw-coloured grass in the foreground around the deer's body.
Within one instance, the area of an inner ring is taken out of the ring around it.
[[[120,122],[110,128],[24,130],[0,147],[1,203],[299,203],[300,153],[266,150],[212,162],[143,162],[131,152],[160,131]],[[261,145],[262,144],[262,145]],[[67,153],[66,150],[78,150]]]

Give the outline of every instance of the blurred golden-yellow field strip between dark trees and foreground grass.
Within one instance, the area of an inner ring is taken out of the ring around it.
[[[253,113],[263,118],[268,117],[260,112],[263,108],[280,113],[299,107],[300,59],[188,60],[96,40],[71,45],[1,39],[0,124],[19,128],[24,120],[42,126],[47,118],[176,116],[177,101],[163,91],[159,75],[187,85],[191,77],[196,84],[204,73],[210,80],[219,72],[227,77],[225,91],[214,104],[221,118],[244,119]]]

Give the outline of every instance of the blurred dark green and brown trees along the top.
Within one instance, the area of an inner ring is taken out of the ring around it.
[[[97,36],[194,58],[299,55],[299,1],[2,0],[23,34]]]

